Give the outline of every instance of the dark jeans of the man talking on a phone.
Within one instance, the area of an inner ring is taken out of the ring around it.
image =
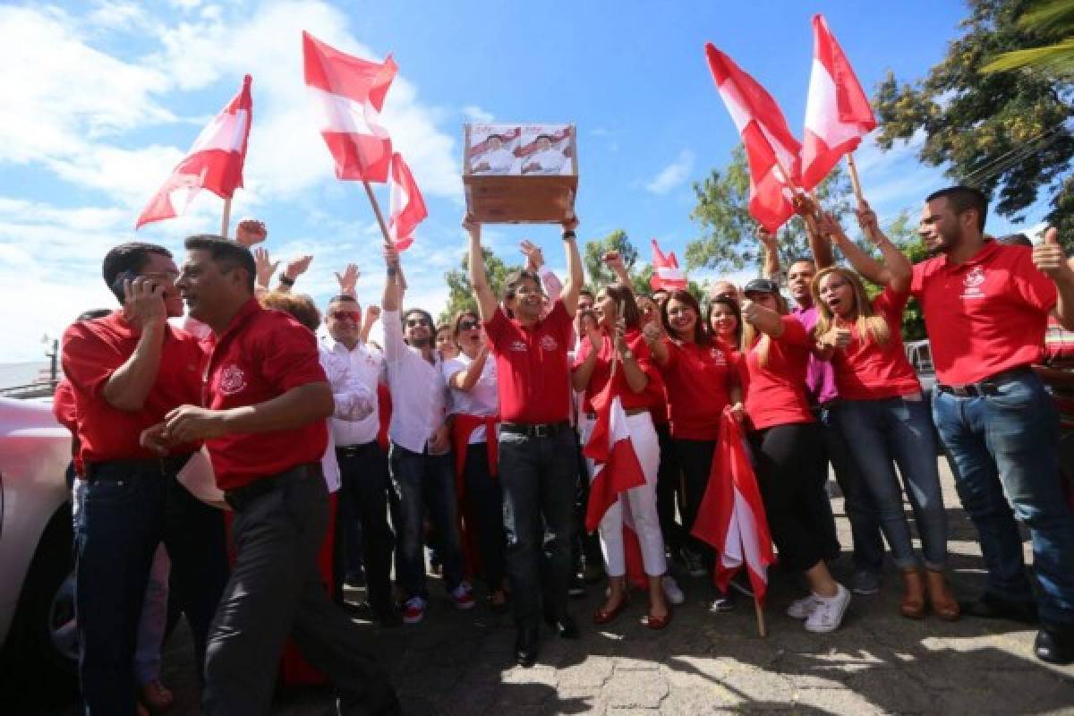
[[[134,714],[133,659],[154,553],[172,559],[195,661],[228,580],[223,514],[175,481],[184,459],[131,459],[89,468],[75,545],[78,672],[87,713]]]

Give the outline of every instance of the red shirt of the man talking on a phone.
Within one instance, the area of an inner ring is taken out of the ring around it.
[[[141,335],[124,319],[121,310],[73,323],[63,332],[61,362],[74,393],[75,437],[83,465],[158,457],[139,444],[142,430],[163,422],[172,408],[200,403],[205,353],[197,338],[171,325],[164,326],[160,367],[142,409],[119,410],[104,399],[105,383],[134,353]],[[171,454],[198,448],[199,443],[176,445]]]

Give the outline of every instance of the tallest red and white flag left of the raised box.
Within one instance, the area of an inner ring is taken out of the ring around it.
[[[380,126],[380,109],[398,69],[394,60],[389,56],[379,63],[345,55],[305,31],[302,57],[336,178],[387,181],[392,141]]]

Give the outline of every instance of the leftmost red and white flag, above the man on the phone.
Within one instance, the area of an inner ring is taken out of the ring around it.
[[[253,114],[251,82],[250,75],[243,78],[238,94],[198,135],[190,151],[146,204],[134,229],[185,214],[194,194],[202,189],[208,189],[220,199],[231,199],[235,189],[243,186],[246,141]]]

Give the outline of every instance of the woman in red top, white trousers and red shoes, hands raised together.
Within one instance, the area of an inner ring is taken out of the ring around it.
[[[596,411],[609,410],[607,403],[619,398],[626,414],[626,428],[638,457],[645,483],[620,493],[600,520],[600,547],[608,568],[608,598],[597,609],[593,620],[608,624],[626,605],[626,545],[623,539],[623,503],[626,502],[641,547],[641,560],[649,578],[649,614],[642,623],[663,629],[671,619],[664,594],[667,572],[664,538],[656,512],[656,479],[661,451],[650,411],[664,398],[664,385],[652,364],[649,347],[641,337],[640,312],[630,289],[613,283],[603,289],[594,304],[598,327],[591,330],[579,347],[571,381],[584,391],[582,408],[597,420]],[[608,383],[611,381],[611,385]],[[609,391],[605,389],[609,388]],[[598,397],[599,396],[599,397]],[[596,399],[597,405],[594,405]],[[590,423],[594,425],[594,422]],[[582,436],[589,442],[590,436]],[[606,480],[597,468],[594,480]]]

